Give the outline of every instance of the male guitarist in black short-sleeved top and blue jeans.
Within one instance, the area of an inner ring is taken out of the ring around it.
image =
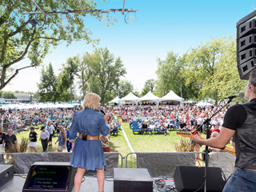
[[[217,138],[203,140],[198,135],[194,142],[224,148],[234,135],[236,160],[225,192],[256,191],[256,70],[250,73],[246,86],[249,102],[231,106],[226,111],[222,130]]]

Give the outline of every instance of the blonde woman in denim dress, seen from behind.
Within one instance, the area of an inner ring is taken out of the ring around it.
[[[86,170],[96,170],[98,178],[98,191],[104,191],[104,166],[105,156],[99,134],[107,135],[109,127],[106,121],[109,116],[98,111],[101,98],[98,94],[86,94],[82,105],[84,110],[74,113],[73,122],[70,126],[70,142],[72,142],[72,155],[70,164],[78,167],[74,178],[74,191],[80,190],[82,177]],[[77,139],[76,135],[79,133]],[[86,137],[87,134],[87,137]]]

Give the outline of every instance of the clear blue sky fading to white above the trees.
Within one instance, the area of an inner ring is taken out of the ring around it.
[[[98,2],[97,8],[120,9],[122,2]],[[236,23],[250,14],[254,6],[256,7],[256,1],[251,0],[126,0],[125,8],[138,9],[134,25],[127,25],[120,12],[110,14],[118,17],[114,26],[102,26],[101,22],[90,16],[84,18],[84,22],[92,31],[92,38],[100,38],[98,47],[107,47],[115,57],[121,57],[127,72],[122,79],[129,80],[141,91],[147,79],[157,78],[157,58],[165,59],[170,50],[182,55],[191,47],[209,41],[211,36],[234,37]],[[58,74],[67,58],[86,51],[92,53],[93,50],[94,47],[85,42],[74,42],[69,47],[63,42],[52,54],[46,56],[44,64],[52,62],[54,71]],[[17,66],[27,66],[29,63],[25,59]],[[39,82],[40,69],[41,67],[20,71],[12,85],[3,90],[35,92],[38,90],[36,82]]]

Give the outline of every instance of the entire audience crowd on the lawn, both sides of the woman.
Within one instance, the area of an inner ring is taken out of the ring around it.
[[[141,129],[141,134],[167,134],[167,130],[191,131],[194,127],[202,125],[202,123],[209,118],[216,106],[198,107],[186,105],[183,108],[179,105],[139,105],[139,106],[102,106],[106,111],[109,119],[106,125],[109,126],[110,132],[108,136],[100,137],[103,149],[110,151],[109,139],[111,134],[118,134],[121,122],[137,122]],[[210,133],[218,132],[221,130],[223,117],[226,113],[228,106],[220,111],[210,122]],[[0,149],[2,152],[8,151],[9,148],[4,141],[7,141],[5,135],[13,130],[29,131],[30,151],[38,152],[36,149],[38,139],[42,143],[42,151],[46,152],[48,146],[52,146],[53,137],[58,137],[58,152],[67,150],[70,152],[72,149],[71,142],[69,141],[69,130],[72,123],[74,112],[82,110],[81,106],[76,106],[72,109],[30,109],[30,110],[4,110],[0,109]],[[143,119],[143,120],[142,120]],[[35,128],[41,128],[41,134],[38,138]],[[205,133],[205,126],[199,130],[202,134]],[[14,138],[14,136],[13,136]],[[15,137],[16,138],[16,137]],[[10,141],[17,142],[17,138]],[[55,142],[55,144],[57,144]],[[191,142],[193,143],[193,142]],[[197,147],[196,147],[197,148]]]

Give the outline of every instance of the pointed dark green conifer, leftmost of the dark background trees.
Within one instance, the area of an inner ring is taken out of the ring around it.
[[[38,101],[39,102],[57,102],[57,79],[54,74],[54,69],[49,63],[48,66],[42,67],[40,71],[40,82],[38,85]]]

